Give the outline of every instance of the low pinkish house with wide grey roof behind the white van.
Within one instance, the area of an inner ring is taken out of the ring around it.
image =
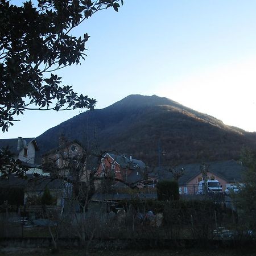
[[[223,160],[205,163],[208,167],[207,179],[218,180],[222,191],[232,184],[241,183],[242,173],[246,167],[235,160]],[[180,164],[177,169],[184,168],[184,175],[178,180],[181,194],[195,194],[199,188],[199,182],[203,180],[201,171],[201,163]],[[162,170],[160,179],[171,179],[172,174],[166,170]]]

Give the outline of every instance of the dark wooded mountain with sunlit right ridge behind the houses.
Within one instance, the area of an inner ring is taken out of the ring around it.
[[[256,149],[256,134],[225,125],[168,98],[130,95],[104,109],[87,111],[36,138],[41,154],[59,135],[86,148],[116,150],[148,164],[237,159],[242,146]]]

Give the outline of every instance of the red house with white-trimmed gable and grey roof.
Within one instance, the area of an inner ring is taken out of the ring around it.
[[[101,159],[96,175],[113,175],[115,180],[131,185],[144,179],[145,168],[146,164],[142,160],[134,159],[131,155],[106,153]]]

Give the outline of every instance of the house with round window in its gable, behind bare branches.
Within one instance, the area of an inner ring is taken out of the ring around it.
[[[57,168],[60,176],[68,176],[71,163],[80,160],[84,148],[77,140],[67,141],[63,134],[59,138],[59,146],[48,151],[42,156],[43,166],[49,166],[49,171]]]

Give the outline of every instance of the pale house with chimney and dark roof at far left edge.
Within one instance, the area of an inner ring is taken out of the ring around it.
[[[35,152],[39,151],[39,147],[35,138],[0,139],[0,150],[5,148],[8,148],[14,154],[14,159],[23,166],[38,166],[35,163]]]

